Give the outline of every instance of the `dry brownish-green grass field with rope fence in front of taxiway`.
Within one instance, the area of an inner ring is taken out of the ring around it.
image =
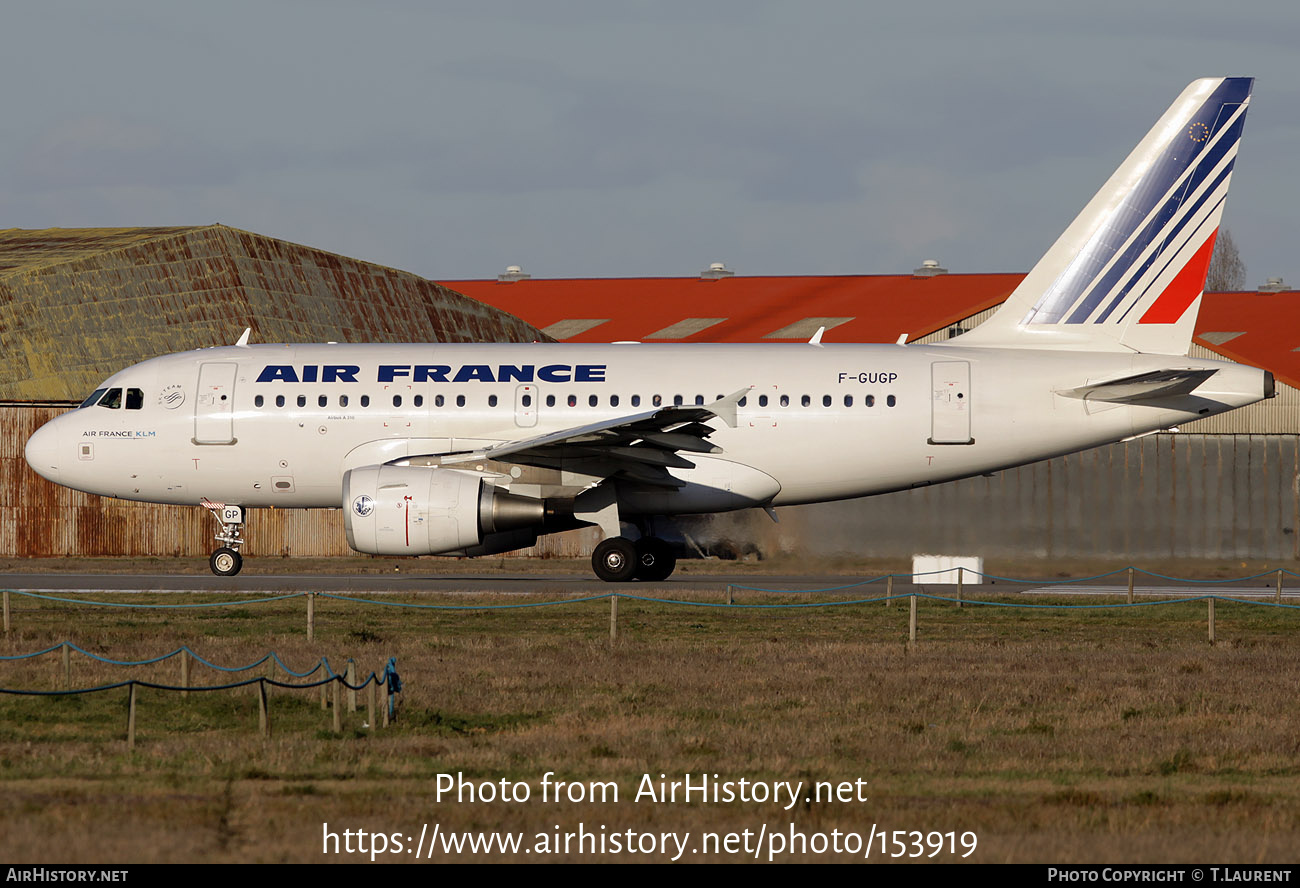
[[[718,603],[718,595],[701,601]],[[4,654],[69,640],[105,657],[143,659],[185,644],[222,664],[268,650],[299,670],[322,655],[335,667],[351,657],[363,675],[395,657],[406,689],[394,725],[363,727],[363,702],[343,714],[341,733],[320,692],[277,689],[269,740],[257,731],[251,689],[185,699],[140,690],[134,751],[126,749],[125,690],[3,696],[0,857],[369,859],[322,857],[324,823],[341,835],[367,829],[412,840],[425,824],[507,829],[525,833],[528,845],[534,833],[582,823],[589,831],[689,832],[693,848],[706,832],[788,832],[793,823],[806,833],[867,836],[875,826],[971,831],[979,844],[966,859],[985,862],[1300,857],[1296,610],[1221,602],[1212,646],[1204,603],[1044,611],[923,602],[915,650],[906,645],[906,602],[725,610],[621,599],[614,645],[606,601],[497,611],[318,601],[311,644],[304,611],[302,598],[146,611],[16,597]],[[116,667],[74,655],[72,672],[78,686],[179,679],[174,659]],[[268,675],[265,667],[257,675]],[[195,684],[225,680],[199,667],[191,673]],[[62,681],[57,654],[0,663],[0,686],[57,689]],[[542,802],[547,771],[612,783],[620,801]],[[498,785],[523,781],[532,798],[439,801],[438,775],[456,772]],[[800,800],[790,810],[770,801],[633,801],[645,774],[863,780],[867,800]],[[599,859],[646,857],[655,858]],[[746,859],[696,850],[685,858]],[[597,858],[571,852],[543,859]]]

